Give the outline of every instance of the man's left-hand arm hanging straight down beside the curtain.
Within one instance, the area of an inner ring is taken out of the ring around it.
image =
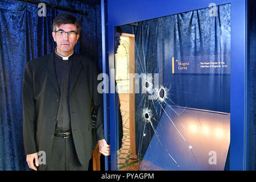
[[[38,166],[38,151],[35,143],[35,101],[33,75],[30,64],[31,61],[28,61],[24,72],[22,86],[23,142],[25,154],[27,154],[28,167],[36,170],[33,160],[35,159],[36,166]]]

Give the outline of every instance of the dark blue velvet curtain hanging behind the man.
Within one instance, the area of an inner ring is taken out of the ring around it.
[[[101,69],[100,5],[79,1],[44,1],[59,6],[86,10],[81,19],[82,32],[75,46],[77,53],[98,61]],[[47,8],[38,16],[38,5],[20,1],[0,1],[0,170],[27,170],[22,135],[22,81],[26,62],[51,53],[52,21],[67,11]]]

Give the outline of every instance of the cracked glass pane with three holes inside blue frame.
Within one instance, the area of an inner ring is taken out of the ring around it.
[[[115,27],[118,170],[224,170],[230,4]]]

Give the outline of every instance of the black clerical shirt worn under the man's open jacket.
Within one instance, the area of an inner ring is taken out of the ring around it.
[[[71,85],[72,57],[63,60],[63,57],[55,51],[54,61],[57,80],[59,82],[60,100],[57,113],[57,123],[55,133],[65,133],[71,131],[70,110],[69,110],[69,88]]]

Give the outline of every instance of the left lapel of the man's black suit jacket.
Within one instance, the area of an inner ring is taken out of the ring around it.
[[[46,71],[48,72],[48,76],[52,82],[52,85],[54,86],[56,92],[60,96],[60,89],[59,89],[59,84],[57,81],[57,75],[56,75],[56,71],[55,71],[55,63],[54,63],[54,59],[53,59],[53,53],[51,53],[50,59],[46,60]]]

